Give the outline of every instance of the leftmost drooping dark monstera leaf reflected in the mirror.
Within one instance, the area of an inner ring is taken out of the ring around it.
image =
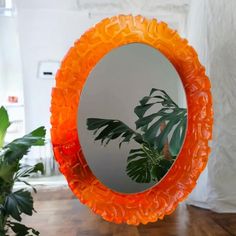
[[[95,140],[100,140],[101,144],[108,144],[118,137],[121,137],[120,145],[124,142],[130,142],[131,139],[142,141],[140,134],[119,120],[88,118],[87,129],[94,131]]]

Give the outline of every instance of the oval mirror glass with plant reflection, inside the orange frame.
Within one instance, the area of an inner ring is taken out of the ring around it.
[[[186,126],[181,80],[156,49],[116,48],[88,76],[79,139],[93,174],[114,191],[137,193],[157,184],[178,157]]]

